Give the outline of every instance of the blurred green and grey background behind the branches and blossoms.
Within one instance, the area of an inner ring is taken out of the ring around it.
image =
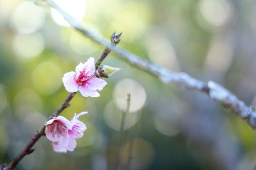
[[[56,0],[118,46],[173,71],[226,86],[256,106],[255,0]],[[61,78],[103,47],[84,38],[44,3],[0,0],[0,164],[9,163],[68,92]],[[255,170],[256,135],[206,95],[163,85],[111,53],[122,68],[99,98],[77,94],[71,107],[87,125],[74,152],[54,153],[42,137],[17,170]],[[120,138],[121,110],[131,113]],[[118,147],[120,146],[120,147]],[[118,153],[119,151],[119,153]]]

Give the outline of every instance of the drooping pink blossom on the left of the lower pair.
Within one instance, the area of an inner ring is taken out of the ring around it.
[[[68,145],[68,130],[72,123],[63,116],[54,117],[45,124],[45,135],[52,142],[58,142],[63,146]]]

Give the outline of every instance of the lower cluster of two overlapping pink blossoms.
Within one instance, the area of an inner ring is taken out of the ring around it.
[[[68,120],[63,116],[54,117],[46,122],[45,135],[52,141],[55,152],[66,153],[74,151],[77,146],[76,138],[83,136],[85,124],[78,118],[88,112],[81,112]]]

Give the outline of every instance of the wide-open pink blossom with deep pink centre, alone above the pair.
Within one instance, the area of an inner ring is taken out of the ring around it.
[[[97,90],[102,90],[107,85],[104,80],[95,77],[93,57],[90,57],[84,64],[80,62],[76,67],[76,72],[65,73],[62,82],[68,92],[80,91],[84,97],[99,97]]]

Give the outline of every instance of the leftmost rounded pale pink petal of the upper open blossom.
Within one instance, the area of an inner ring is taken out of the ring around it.
[[[62,78],[62,82],[68,92],[76,92],[78,91],[78,83],[76,82],[76,73],[74,71],[70,71],[64,74]]]

